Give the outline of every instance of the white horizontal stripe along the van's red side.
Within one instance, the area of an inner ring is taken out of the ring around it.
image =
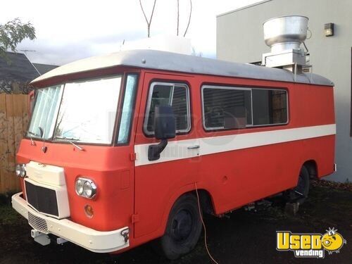
[[[168,146],[166,146],[157,161],[148,160],[148,147],[151,144],[140,144],[134,146],[134,152],[137,153],[135,165],[142,166],[176,161],[183,158],[192,158],[237,149],[249,149],[256,146],[325,137],[332,134],[336,134],[335,124],[172,141],[168,142]]]

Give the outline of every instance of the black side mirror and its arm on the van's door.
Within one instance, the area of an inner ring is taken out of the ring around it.
[[[156,106],[154,111],[154,133],[161,142],[148,148],[149,161],[156,161],[168,145],[168,139],[176,136],[175,115],[171,106]]]

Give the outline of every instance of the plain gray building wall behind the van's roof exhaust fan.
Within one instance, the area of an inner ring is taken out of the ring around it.
[[[306,15],[312,37],[306,40],[313,73],[335,84],[337,172],[329,180],[352,181],[351,126],[351,0],[268,0],[218,15],[217,57],[225,61],[261,61],[270,48],[263,40],[263,22],[280,15]],[[334,23],[334,36],[325,37],[325,23]],[[309,37],[309,33],[308,33]]]

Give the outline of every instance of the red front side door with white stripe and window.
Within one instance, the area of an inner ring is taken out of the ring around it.
[[[137,126],[134,188],[134,237],[161,228],[170,201],[199,173],[199,139],[194,130],[191,109],[192,77],[146,73],[139,124]],[[148,147],[160,141],[153,136],[154,108],[170,105],[175,115],[176,137],[156,161],[149,161]]]

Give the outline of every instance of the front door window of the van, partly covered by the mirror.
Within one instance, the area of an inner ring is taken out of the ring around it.
[[[154,133],[154,109],[156,106],[170,105],[175,114],[176,132],[191,130],[189,108],[189,87],[186,84],[153,82],[149,90],[149,98],[144,120],[144,132]]]

